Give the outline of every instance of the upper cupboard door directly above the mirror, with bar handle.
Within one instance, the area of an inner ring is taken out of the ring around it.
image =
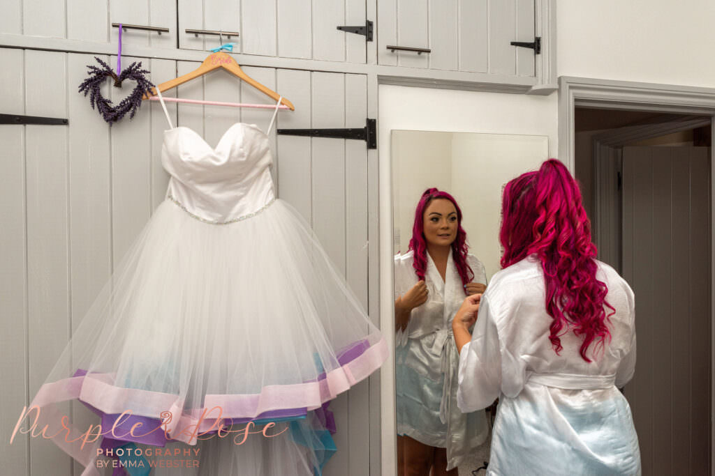
[[[535,76],[533,0],[378,0],[378,63]],[[388,46],[430,49],[391,51]]]

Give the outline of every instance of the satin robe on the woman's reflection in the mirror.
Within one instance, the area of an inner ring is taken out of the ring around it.
[[[395,299],[418,282],[413,262],[413,251],[395,256]],[[468,264],[473,282],[486,284],[480,260],[468,255]],[[456,403],[459,355],[451,323],[466,294],[452,253],[445,280],[427,253],[425,285],[427,301],[412,310],[405,330],[396,333],[398,434],[447,448],[451,469],[486,440],[488,425],[483,410],[464,414]]]

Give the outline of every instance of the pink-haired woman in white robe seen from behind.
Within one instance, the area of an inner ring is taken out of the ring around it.
[[[640,475],[631,408],[618,391],[636,363],[633,291],[595,259],[563,163],[506,185],[499,240],[503,269],[453,320],[460,409],[499,397],[487,474]]]

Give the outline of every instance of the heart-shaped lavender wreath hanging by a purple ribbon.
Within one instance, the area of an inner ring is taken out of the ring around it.
[[[102,115],[104,121],[109,123],[109,126],[119,121],[119,119],[123,118],[127,113],[129,113],[129,119],[134,118],[134,114],[137,113],[137,108],[142,105],[142,96],[144,96],[145,93],[149,96],[152,95],[154,84],[144,76],[148,74],[149,71],[142,69],[141,61],[139,61],[139,63],[135,61],[117,76],[107,63],[104,63],[104,61],[97,58],[97,56],[94,56],[94,59],[102,65],[102,68],[87,65],[89,78],[82,81],[82,84],[79,85],[79,92],[84,92],[84,96],[89,94],[89,103],[92,105],[92,109],[94,109],[96,105],[97,111]],[[117,106],[112,106],[112,100],[102,96],[102,91],[99,91],[99,87],[104,84],[104,81],[107,81],[107,78],[114,79],[114,86],[117,87],[122,87],[122,81],[125,79],[136,81],[137,86],[134,87],[134,91],[122,99]]]

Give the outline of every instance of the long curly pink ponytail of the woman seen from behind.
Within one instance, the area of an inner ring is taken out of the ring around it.
[[[546,310],[553,318],[549,335],[558,354],[560,335],[583,335],[580,354],[597,340],[601,349],[611,333],[606,327],[615,309],[606,302],[606,283],[596,279],[596,245],[591,222],[581,203],[578,183],[566,166],[549,159],[537,172],[527,172],[506,184],[502,196],[499,240],[502,268],[536,255],[546,282]],[[606,315],[605,307],[611,309]],[[566,328],[566,330],[564,330]],[[563,330],[563,332],[562,332]]]

